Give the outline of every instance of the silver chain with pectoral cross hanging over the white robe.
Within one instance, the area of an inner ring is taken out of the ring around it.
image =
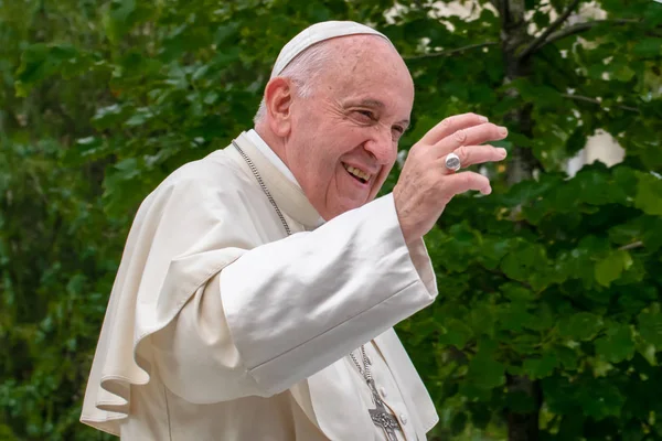
[[[248,158],[248,155],[244,152],[244,150],[242,150],[242,148],[239,146],[237,146],[237,143],[234,140],[232,141],[232,144],[234,146],[235,149],[237,149],[237,151],[239,152],[242,158],[244,158],[244,161],[246,161],[246,164],[253,172],[255,180],[259,184],[260,189],[263,190],[263,192],[269,200],[269,203],[276,211],[276,214],[280,218],[280,222],[282,223],[282,227],[285,228],[285,233],[288,236],[290,236],[292,234],[290,230],[290,227],[289,227],[287,220],[285,219],[285,216],[280,212],[280,208],[278,208],[276,201],[271,196],[269,189],[267,189],[267,185],[265,184],[261,176],[259,175],[259,172],[257,171],[255,163],[253,163],[250,158]],[[395,434],[395,430],[401,430],[401,427],[399,427],[399,423],[397,422],[397,419],[393,416],[392,412],[388,411],[388,409],[386,408],[386,405],[382,400],[382,397],[380,397],[380,394],[377,392],[377,388],[375,386],[375,380],[373,379],[372,373],[370,370],[370,365],[372,363],[371,363],[370,358],[367,357],[367,355],[365,354],[365,345],[361,345],[361,356],[363,358],[363,367],[361,367],[361,365],[356,361],[354,353],[350,353],[350,357],[352,358],[352,362],[354,362],[354,364],[356,365],[356,368],[359,369],[359,374],[361,374],[363,376],[363,378],[365,379],[365,383],[367,384],[367,387],[370,388],[370,391],[372,394],[373,401],[375,402],[375,409],[367,409],[367,411],[370,412],[370,417],[373,420],[373,423],[375,426],[377,426],[384,430],[387,441],[397,441],[397,435]]]

